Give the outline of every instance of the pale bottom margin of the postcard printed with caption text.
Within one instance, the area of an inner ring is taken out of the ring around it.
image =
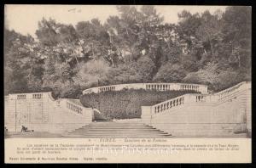
[[[11,140],[14,139],[9,139]],[[137,162],[143,162],[147,157],[152,157],[154,162],[154,160],[170,161],[180,156],[191,160],[201,155],[209,156],[208,160],[214,160],[216,154],[223,156],[230,154],[236,157],[247,154],[243,151],[250,149],[250,145],[247,145],[248,139],[242,140],[86,138],[70,141],[56,139],[23,141],[22,139],[17,145],[9,145],[6,148],[8,150],[6,150],[5,161],[8,163],[92,163],[114,162],[115,159],[122,158],[119,161],[129,162],[129,159],[138,156]]]

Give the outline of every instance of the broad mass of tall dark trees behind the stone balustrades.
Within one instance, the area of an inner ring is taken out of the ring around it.
[[[251,8],[178,14],[163,24],[154,6],[118,6],[105,24],[41,20],[37,38],[5,29],[5,94],[53,91],[78,98],[88,87],[193,82],[217,91],[251,80]]]

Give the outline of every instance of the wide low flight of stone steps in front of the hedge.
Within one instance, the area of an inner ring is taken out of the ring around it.
[[[148,126],[140,122],[113,122],[102,121],[92,122],[87,126],[82,126],[72,132],[67,132],[63,137],[172,137],[172,134],[162,132],[153,126]]]

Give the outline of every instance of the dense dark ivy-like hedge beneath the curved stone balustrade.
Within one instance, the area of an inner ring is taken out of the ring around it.
[[[85,107],[96,108],[109,119],[139,118],[141,106],[159,104],[171,98],[195,91],[147,91],[123,89],[115,92],[84,94],[80,101]]]

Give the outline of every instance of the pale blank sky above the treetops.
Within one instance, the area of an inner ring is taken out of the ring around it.
[[[177,13],[188,10],[190,13],[201,13],[217,9],[224,11],[224,6],[155,6],[157,12],[164,16],[166,23],[177,23]],[[76,25],[79,21],[98,18],[105,22],[110,15],[119,15],[112,5],[6,5],[5,25],[9,30],[15,30],[23,35],[35,36],[38,21],[52,18],[63,24]]]

